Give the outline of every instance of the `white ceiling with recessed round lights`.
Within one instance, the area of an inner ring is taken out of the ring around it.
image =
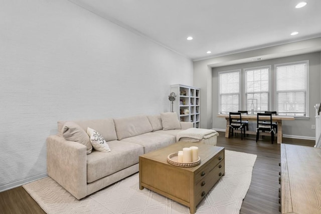
[[[320,0],[69,1],[194,61],[321,37]]]

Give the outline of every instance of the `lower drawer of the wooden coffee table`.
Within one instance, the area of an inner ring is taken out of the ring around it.
[[[200,182],[196,184],[196,204],[212,189],[215,183],[225,173],[225,160],[223,159],[214,169],[212,169]]]

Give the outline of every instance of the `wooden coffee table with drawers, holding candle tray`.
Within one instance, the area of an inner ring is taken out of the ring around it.
[[[201,163],[177,167],[167,162],[169,154],[184,147],[199,147]],[[178,142],[139,156],[139,189],[144,187],[190,207],[197,204],[225,173],[225,149],[207,144]]]

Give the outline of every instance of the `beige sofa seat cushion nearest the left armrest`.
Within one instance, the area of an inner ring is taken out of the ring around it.
[[[143,147],[128,142],[109,141],[110,152],[93,150],[87,155],[87,183],[132,166],[139,161]]]

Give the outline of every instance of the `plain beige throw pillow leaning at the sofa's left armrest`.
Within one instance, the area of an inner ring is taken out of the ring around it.
[[[89,136],[80,126],[73,122],[66,122],[61,130],[62,136],[67,141],[75,141],[87,147],[87,155],[92,151]]]

